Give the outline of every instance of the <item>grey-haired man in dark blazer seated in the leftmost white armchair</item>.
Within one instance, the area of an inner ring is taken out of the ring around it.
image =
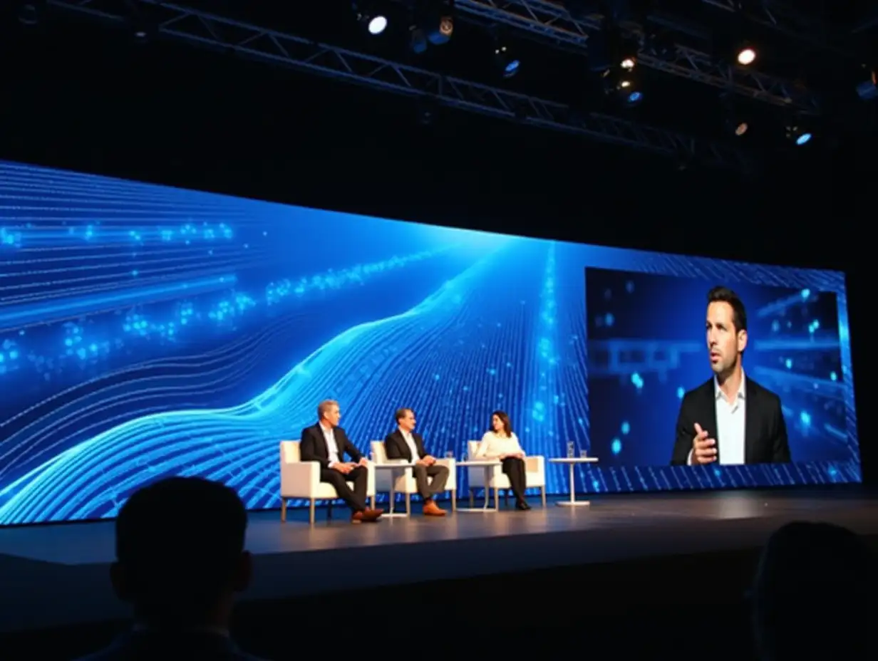
[[[369,481],[369,462],[350,442],[344,429],[338,426],[342,419],[338,402],[326,399],[317,406],[318,422],[302,429],[299,456],[303,462],[320,463],[320,482],[335,487],[338,497],[350,507],[352,523],[378,521],[384,510],[366,507],[366,487]],[[353,462],[344,461],[347,453]],[[349,482],[354,483],[351,489]]]

